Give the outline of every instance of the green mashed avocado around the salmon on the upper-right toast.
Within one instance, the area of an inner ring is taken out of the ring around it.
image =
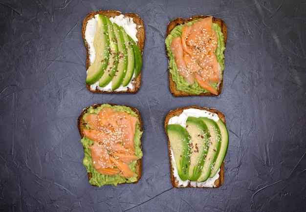
[[[194,24],[196,21],[199,21],[201,19],[195,20],[195,21],[190,21],[187,22],[185,24],[187,25],[192,25]],[[175,57],[170,49],[170,45],[172,40],[175,37],[181,37],[182,36],[182,28],[184,25],[178,25],[176,26],[171,33],[167,36],[166,40],[165,40],[165,44],[166,44],[166,48],[167,48],[167,52],[168,52],[168,56],[169,56],[169,70],[170,73],[172,74],[172,79],[176,84],[176,90],[180,90],[183,92],[188,92],[188,93],[193,93],[193,94],[200,94],[200,93],[207,93],[209,92],[208,90],[202,88],[200,85],[197,84],[197,81],[195,81],[195,83],[193,85],[190,85],[187,83],[187,81],[185,80],[184,77],[180,76],[178,74],[177,71],[177,66],[175,63]],[[218,63],[221,66],[222,69],[222,73],[223,73],[223,69],[224,69],[224,50],[225,50],[225,44],[224,44],[224,36],[223,33],[221,32],[221,28],[217,23],[213,23],[212,24],[212,29],[214,29],[217,33],[217,37],[218,37],[218,46],[217,49],[215,51]],[[222,74],[223,75],[223,74]],[[212,86],[214,86],[215,88],[218,88],[218,83],[211,83]]]

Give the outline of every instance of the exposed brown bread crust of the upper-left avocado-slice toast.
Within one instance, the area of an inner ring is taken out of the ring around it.
[[[83,41],[85,44],[85,48],[86,48],[86,70],[88,69],[88,67],[90,66],[90,62],[89,62],[89,48],[88,48],[88,43],[85,40],[85,31],[86,31],[86,26],[87,26],[87,21],[89,21],[90,19],[93,19],[95,15],[100,14],[100,15],[104,15],[108,18],[113,18],[115,16],[119,16],[122,13],[119,11],[115,11],[115,10],[99,10],[96,12],[90,12],[88,13],[88,15],[85,17],[84,21],[83,21],[83,25],[82,25],[82,35],[83,35]],[[143,48],[145,45],[145,27],[143,24],[142,19],[133,13],[127,13],[127,14],[123,14],[125,17],[129,17],[132,18],[134,23],[136,23],[136,27],[137,27],[137,34],[136,37],[138,39],[137,46],[140,49],[141,55],[143,54]],[[131,84],[133,85],[133,88],[128,88],[128,90],[125,91],[103,91],[103,90],[99,90],[98,88],[96,89],[90,89],[90,85],[86,84],[86,87],[89,91],[91,91],[92,93],[136,93],[136,91],[140,88],[140,84],[141,84],[141,72],[139,73],[139,75],[137,76],[136,79],[133,79],[131,81]]]

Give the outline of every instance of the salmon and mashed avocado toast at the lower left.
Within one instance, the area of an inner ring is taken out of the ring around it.
[[[137,109],[112,104],[85,108],[78,118],[89,183],[136,183],[141,177],[142,122]]]

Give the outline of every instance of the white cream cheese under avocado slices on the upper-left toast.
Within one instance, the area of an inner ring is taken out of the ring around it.
[[[85,30],[85,40],[88,44],[90,65],[93,64],[94,60],[96,59],[96,50],[95,50],[95,47],[93,45],[93,40],[94,40],[94,35],[95,35],[95,32],[96,32],[98,16],[99,16],[99,14],[95,15],[94,18],[87,21],[86,30]],[[122,26],[124,28],[124,30],[127,32],[127,34],[129,36],[131,36],[131,38],[136,43],[138,42],[138,39],[136,37],[136,34],[137,34],[136,26],[137,25],[136,25],[136,23],[134,23],[132,18],[124,17],[124,15],[121,14],[119,16],[115,16],[114,18],[110,18],[109,20],[112,23],[115,22],[119,26]],[[134,79],[134,75],[133,75],[132,79]],[[112,85],[112,82],[110,82],[109,85],[107,85],[105,87],[100,87],[99,86],[99,81],[98,81],[98,82],[94,83],[93,85],[90,85],[90,89],[95,90],[96,88],[98,88],[99,90],[103,90],[103,91],[112,91],[111,90],[111,85]],[[116,91],[125,91],[125,90],[128,90],[128,88],[132,89],[132,87],[133,87],[133,85],[130,82],[129,85],[127,85],[127,86],[122,86],[121,85],[118,89],[116,89]]]

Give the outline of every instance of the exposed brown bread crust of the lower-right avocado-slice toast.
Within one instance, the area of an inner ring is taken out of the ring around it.
[[[168,150],[169,150],[169,159],[170,159],[170,173],[171,173],[171,184],[173,185],[173,187],[181,189],[181,188],[195,188],[194,186],[192,186],[190,183],[187,186],[180,186],[178,185],[178,180],[175,178],[174,176],[174,168],[172,167],[172,157],[171,157],[171,146],[170,146],[170,141],[169,141],[169,137],[168,137],[168,133],[167,133],[167,126],[169,123],[169,120],[174,117],[174,116],[179,116],[184,109],[189,109],[189,108],[194,108],[194,109],[199,109],[199,110],[207,110],[213,113],[216,113],[219,117],[219,119],[224,123],[224,125],[226,125],[225,123],[225,117],[224,114],[221,113],[220,111],[218,111],[215,108],[206,108],[206,107],[199,107],[199,106],[188,106],[188,107],[182,107],[182,108],[177,108],[175,110],[171,110],[165,118],[164,121],[164,129],[167,135],[167,139],[168,139]],[[223,184],[223,180],[224,180],[224,161],[221,164],[220,167],[220,171],[219,171],[219,178],[217,180],[215,180],[214,183],[214,187],[213,188],[218,188]],[[197,187],[197,188],[210,188],[210,187]]]

